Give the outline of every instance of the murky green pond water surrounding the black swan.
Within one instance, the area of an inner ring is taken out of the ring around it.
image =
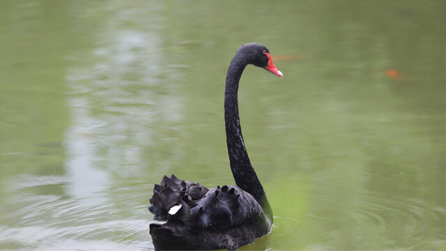
[[[233,184],[224,78],[256,41],[284,73],[240,84],[268,249],[445,250],[445,10],[1,1],[0,248],[153,250],[162,175]]]

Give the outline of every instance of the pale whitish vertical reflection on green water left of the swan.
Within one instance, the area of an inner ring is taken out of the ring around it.
[[[75,197],[105,190],[112,182],[109,176],[131,176],[143,168],[141,148],[151,144],[148,126],[156,113],[162,111],[162,119],[180,119],[178,100],[169,96],[157,100],[151,91],[151,86],[160,84],[155,76],[163,70],[157,34],[126,30],[106,35],[112,42],[105,40],[93,52],[100,62],[74,68],[67,78],[75,95],[68,101],[72,126],[66,133],[66,169],[71,181],[68,192]],[[127,80],[128,75],[138,78]],[[132,84],[145,86],[129,92]],[[100,112],[93,114],[93,109]]]

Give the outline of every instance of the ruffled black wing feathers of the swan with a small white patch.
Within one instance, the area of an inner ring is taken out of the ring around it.
[[[259,203],[236,185],[208,190],[174,175],[164,176],[160,185],[155,185],[150,201],[154,220],[183,222],[190,227],[226,229],[263,218]]]

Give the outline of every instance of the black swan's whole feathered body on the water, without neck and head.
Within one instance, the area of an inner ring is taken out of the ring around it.
[[[236,249],[268,234],[271,220],[259,203],[236,185],[208,188],[164,176],[155,185],[149,210],[150,233],[157,250]]]

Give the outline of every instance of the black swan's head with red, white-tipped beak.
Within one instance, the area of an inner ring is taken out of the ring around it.
[[[268,72],[277,77],[284,77],[283,73],[272,63],[270,51],[265,45],[247,43],[240,46],[238,52],[245,56],[248,64],[253,64],[254,66],[268,70]]]

